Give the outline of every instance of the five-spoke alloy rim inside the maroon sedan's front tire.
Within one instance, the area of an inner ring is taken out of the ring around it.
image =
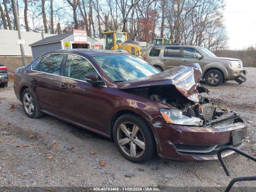
[[[145,151],[145,138],[140,128],[132,122],[123,122],[117,130],[117,141],[122,151],[132,158],[142,156]]]

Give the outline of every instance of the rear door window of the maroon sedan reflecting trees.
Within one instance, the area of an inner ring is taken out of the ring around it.
[[[64,54],[46,55],[40,60],[39,64],[36,62],[34,64],[35,66],[34,65],[32,66],[32,69],[34,67],[34,68],[38,68],[38,71],[40,72],[60,75],[60,67],[61,67],[63,56]]]

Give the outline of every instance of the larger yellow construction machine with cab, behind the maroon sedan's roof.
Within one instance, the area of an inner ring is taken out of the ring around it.
[[[106,50],[127,50],[130,54],[141,58],[140,44],[134,40],[127,40],[127,32],[103,32]]]

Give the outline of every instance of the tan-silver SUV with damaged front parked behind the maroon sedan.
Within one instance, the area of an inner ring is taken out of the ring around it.
[[[227,80],[239,84],[246,81],[242,61],[234,58],[217,57],[204,47],[180,44],[154,45],[144,54],[144,60],[161,71],[183,64],[199,63],[202,79],[210,86],[218,86]]]

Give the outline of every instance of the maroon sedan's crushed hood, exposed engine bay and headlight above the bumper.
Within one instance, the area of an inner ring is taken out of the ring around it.
[[[218,110],[208,98],[201,96],[209,93],[200,86],[201,76],[199,64],[189,64],[147,78],[121,82],[118,86],[168,106],[161,108],[160,114],[169,124],[207,127],[244,123],[236,113]]]

